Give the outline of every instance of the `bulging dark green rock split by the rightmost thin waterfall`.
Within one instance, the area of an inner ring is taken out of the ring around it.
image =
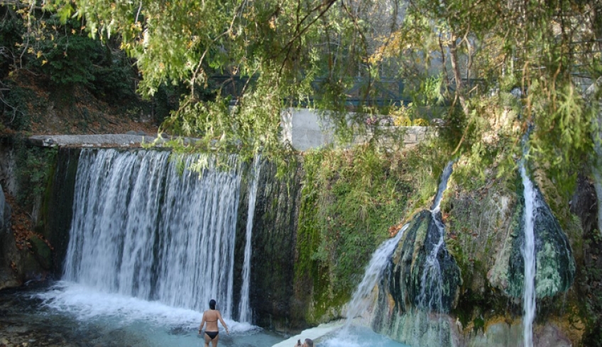
[[[575,277],[575,260],[569,240],[549,206],[537,189],[535,204],[535,253],[537,273],[535,291],[538,298],[566,292]],[[491,277],[510,297],[522,297],[525,262],[522,245],[525,241],[525,199],[520,197],[513,217],[513,231],[508,236],[500,261]]]

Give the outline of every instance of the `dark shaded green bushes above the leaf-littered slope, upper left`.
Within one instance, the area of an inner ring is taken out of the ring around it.
[[[38,111],[32,110],[35,105],[31,98],[23,97],[23,88],[31,87],[32,81],[38,88],[48,87],[48,92],[61,101],[74,100],[77,88],[87,88],[111,103],[136,98],[138,75],[131,58],[119,50],[119,38],[94,40],[82,21],[61,21],[59,13],[38,4],[0,2],[0,16],[0,112],[4,125],[26,130],[35,121],[31,115]]]

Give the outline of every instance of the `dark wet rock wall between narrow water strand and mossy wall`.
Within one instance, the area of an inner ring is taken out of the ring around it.
[[[287,331],[298,324],[305,326],[302,309],[307,302],[297,302],[293,293],[295,275],[295,236],[300,199],[301,171],[290,172],[283,180],[275,180],[277,168],[263,163],[258,181],[253,234],[251,236],[251,285],[249,302],[253,308],[253,324]],[[241,202],[248,201],[243,192]],[[235,258],[244,258],[247,211],[239,209]],[[242,261],[235,265],[241,272]],[[235,287],[234,292],[240,292]]]

